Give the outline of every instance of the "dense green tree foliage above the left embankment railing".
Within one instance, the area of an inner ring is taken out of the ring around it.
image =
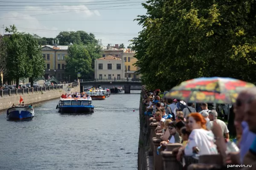
[[[16,80],[17,88],[21,78],[42,76],[45,65],[41,48],[32,35],[18,32],[14,25],[6,28],[6,32],[12,33],[11,36],[3,38],[7,54],[6,68],[9,79]]]

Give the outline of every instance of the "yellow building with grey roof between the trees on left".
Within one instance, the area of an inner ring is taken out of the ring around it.
[[[42,54],[45,59],[44,78],[55,77],[59,81],[69,81],[65,75],[65,56],[67,56],[67,45],[44,45]]]

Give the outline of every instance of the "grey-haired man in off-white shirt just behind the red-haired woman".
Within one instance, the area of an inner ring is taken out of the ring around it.
[[[218,119],[218,113],[214,110],[209,112],[209,119],[210,122],[208,123],[207,129],[211,130],[213,122],[216,122],[220,127],[222,134],[225,136],[225,138],[229,139],[229,130],[227,129],[227,125],[222,120]]]

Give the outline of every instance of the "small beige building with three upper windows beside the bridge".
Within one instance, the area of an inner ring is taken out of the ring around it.
[[[95,79],[124,79],[125,61],[108,55],[94,60]]]

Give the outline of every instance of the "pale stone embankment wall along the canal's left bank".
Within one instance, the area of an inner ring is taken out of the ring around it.
[[[61,94],[65,94],[66,91],[63,89],[53,89],[46,91],[35,91],[29,94],[11,94],[11,96],[0,96],[0,111],[8,109],[14,103],[15,105],[19,104],[20,96],[22,97],[25,105],[35,104],[38,102],[44,102],[51,99],[58,99],[61,97]],[[56,104],[57,105],[57,104]]]

